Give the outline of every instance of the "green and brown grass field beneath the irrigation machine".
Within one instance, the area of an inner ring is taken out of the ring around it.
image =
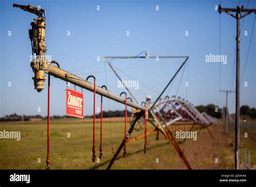
[[[30,121],[28,123],[2,123],[0,131],[21,131],[21,140],[0,139],[0,169],[45,169],[47,153],[46,121]],[[111,133],[112,129],[112,143]],[[149,125],[149,130],[153,128]],[[81,120],[51,120],[51,169],[106,169],[113,153],[123,139],[123,122],[105,122],[103,134],[103,159],[93,163],[92,155],[92,123]],[[96,150],[99,156],[99,123],[96,124]],[[232,169],[233,147],[230,138],[223,134],[221,125],[210,127],[215,140],[206,130],[201,130],[197,141],[186,140],[180,143],[188,162],[193,169]],[[70,133],[70,138],[67,137]],[[144,130],[133,131],[131,137],[144,133]],[[255,146],[255,139],[252,140]],[[147,138],[147,152],[144,154],[144,139],[127,143],[127,156],[123,152],[114,162],[112,169],[186,169],[172,145],[160,134],[156,141],[156,133]],[[252,162],[255,163],[255,149]],[[159,163],[156,163],[156,159]],[[218,158],[218,163],[215,163]],[[41,163],[38,163],[41,159]]]

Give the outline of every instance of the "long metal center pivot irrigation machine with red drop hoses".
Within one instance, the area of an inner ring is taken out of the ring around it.
[[[114,163],[114,161],[117,159],[120,151],[124,148],[124,157],[126,154],[126,143],[133,142],[135,140],[138,140],[140,138],[144,138],[144,153],[146,153],[146,143],[147,143],[147,136],[157,132],[157,139],[159,132],[164,134],[166,139],[170,141],[171,145],[174,147],[176,152],[178,153],[180,159],[184,162],[186,167],[188,169],[192,169],[190,164],[188,163],[183,151],[180,149],[178,143],[174,139],[173,132],[178,129],[185,129],[189,132],[191,131],[200,131],[201,128],[206,128],[207,131],[210,133],[211,137],[213,138],[213,135],[211,134],[210,130],[208,130],[208,126],[215,123],[215,119],[208,116],[206,113],[200,113],[196,107],[194,107],[191,103],[188,103],[188,101],[185,101],[185,99],[181,99],[180,97],[176,98],[176,96],[173,96],[170,98],[169,96],[166,96],[164,99],[161,99],[163,96],[163,93],[166,91],[166,89],[169,87],[171,82],[174,80],[176,75],[179,73],[180,69],[184,67],[184,64],[188,60],[188,56],[149,56],[149,53],[145,52],[145,56],[107,56],[104,57],[104,60],[109,64],[110,68],[113,70],[114,74],[119,78],[119,80],[122,82],[122,79],[117,74],[116,70],[111,66],[111,60],[112,59],[135,59],[135,58],[141,58],[141,59],[156,59],[156,58],[183,58],[185,59],[184,62],[181,64],[177,72],[174,74],[174,76],[171,78],[169,83],[167,83],[164,90],[160,93],[158,98],[151,102],[151,97],[148,95],[146,97],[146,101],[139,104],[137,99],[132,95],[131,91],[125,86],[126,90],[130,93],[132,98],[127,98],[127,95],[125,92],[122,92],[120,96],[115,95],[114,93],[108,91],[105,86],[98,87],[96,86],[96,78],[92,75],[87,77],[86,80],[83,78],[80,78],[74,74],[69,73],[68,71],[65,71],[63,69],[60,69],[59,63],[56,61],[49,62],[45,58],[46,53],[46,46],[45,46],[45,15],[46,12],[44,9],[37,8],[35,6],[29,5],[13,5],[16,8],[20,8],[24,11],[33,13],[37,15],[38,17],[34,19],[34,21],[31,22],[32,29],[29,30],[29,38],[31,40],[31,47],[32,47],[32,55],[35,53],[36,57],[34,57],[31,61],[31,68],[33,70],[33,73],[35,73],[35,76],[32,78],[34,81],[35,89],[38,92],[41,92],[44,89],[44,81],[46,80],[45,73],[48,74],[48,154],[46,159],[46,169],[50,169],[50,75],[54,76],[56,78],[60,78],[61,80],[65,82],[70,82],[74,85],[77,85],[80,88],[84,88],[86,90],[89,90],[91,92],[94,92],[94,111],[93,111],[93,148],[92,148],[92,161],[95,162],[96,160],[96,149],[95,149],[95,95],[98,94],[102,96],[101,104],[103,101],[103,97],[115,100],[116,102],[125,104],[125,133],[124,133],[124,139],[122,143],[120,144],[119,148],[117,149],[117,152],[114,154],[111,162],[109,163],[109,166],[107,169],[110,169]],[[111,59],[110,61],[108,59]],[[57,64],[58,67],[53,66],[52,63]],[[89,78],[94,79],[94,83],[90,83],[87,81]],[[125,97],[121,97],[121,95],[125,95]],[[134,100],[134,102],[133,102]],[[133,108],[133,120],[131,122],[131,127],[127,131],[127,106],[130,106]],[[100,120],[100,159],[102,159],[102,125],[103,125],[103,116],[101,111],[101,120]],[[149,121],[150,124],[154,126],[154,129],[151,131],[147,131],[147,121]],[[138,123],[143,123],[144,125],[144,133],[129,139],[132,131],[134,130],[134,127]],[[129,136],[127,136],[129,134]],[[213,138],[214,139],[214,138]],[[183,141],[185,141],[184,139]]]

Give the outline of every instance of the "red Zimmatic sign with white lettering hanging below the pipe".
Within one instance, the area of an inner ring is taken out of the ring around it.
[[[66,88],[66,115],[84,118],[84,93]]]

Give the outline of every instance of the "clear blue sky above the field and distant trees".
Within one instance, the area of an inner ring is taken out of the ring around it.
[[[220,54],[220,15],[214,6],[220,1],[7,1],[0,2],[1,24],[1,116],[5,114],[47,113],[47,89],[37,93],[33,89],[33,73],[30,68],[31,47],[28,37],[30,23],[36,16],[12,4],[40,5],[46,9],[46,46],[51,60],[60,63],[62,69],[71,71],[82,78],[91,73],[98,85],[107,85],[114,92],[117,79],[103,60],[103,56],[136,56],[148,51],[152,56],[188,55],[187,69],[177,93],[182,71],[174,81],[168,95],[186,97],[185,82],[188,81],[187,100],[194,105],[209,103],[223,107],[225,95],[219,89],[235,89],[232,67],[235,55],[236,22],[231,16],[221,14],[221,54],[227,55],[227,64],[207,63],[205,55]],[[223,7],[232,8],[239,1],[221,1]],[[100,11],[97,11],[97,5]],[[159,11],[156,11],[156,5]],[[241,0],[240,5],[247,5]],[[256,8],[250,1],[248,8]],[[252,35],[254,14],[247,16],[241,30],[241,72],[244,70],[248,45]],[[242,23],[243,20],[241,20]],[[245,75],[241,84],[241,104],[256,106],[255,100],[255,30],[248,55]],[[11,31],[11,36],[8,32]],[[70,31],[70,36],[67,32]],[[130,36],[126,36],[126,31]],[[188,36],[185,32],[188,31]],[[244,35],[244,31],[248,35]],[[100,61],[97,61],[100,56]],[[113,60],[113,66],[126,69],[124,72],[139,80],[139,89],[131,91],[139,102],[145,100],[144,93],[155,99],[157,93],[147,89],[146,84],[156,92],[165,87],[179,68],[183,59],[176,60]],[[107,83],[104,66],[107,69]],[[138,69],[134,69],[134,68]],[[146,67],[146,68],[140,68]],[[131,69],[130,69],[131,68]],[[132,69],[133,68],[133,69]],[[219,70],[221,69],[221,87]],[[119,71],[125,80],[131,80]],[[188,79],[187,79],[188,77]],[[231,81],[230,81],[231,79]],[[244,87],[244,82],[248,87]],[[11,87],[8,87],[11,82]],[[47,86],[47,82],[45,82]],[[65,114],[66,84],[51,78],[51,114]],[[233,88],[232,88],[233,87]],[[73,85],[71,85],[73,88]],[[78,88],[77,88],[78,89]],[[143,93],[142,93],[143,92]],[[167,92],[164,96],[167,95]],[[229,107],[234,112],[234,93],[230,95]],[[106,101],[106,99],[104,99]],[[97,106],[100,96],[97,96]],[[84,114],[93,111],[93,95],[84,90]],[[110,100],[110,110],[123,110],[122,104]],[[41,107],[41,112],[38,112]],[[107,102],[104,110],[108,110]]]

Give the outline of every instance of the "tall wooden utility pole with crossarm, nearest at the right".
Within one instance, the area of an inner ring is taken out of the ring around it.
[[[250,13],[256,13],[256,9],[244,9],[244,6],[237,6],[235,9],[222,8],[219,5],[219,13],[226,12],[228,15],[237,19],[237,70],[235,82],[235,169],[239,169],[239,138],[240,138],[240,19]],[[233,15],[232,12],[235,12]],[[245,12],[245,13],[244,13]],[[244,13],[244,15],[242,15]]]

